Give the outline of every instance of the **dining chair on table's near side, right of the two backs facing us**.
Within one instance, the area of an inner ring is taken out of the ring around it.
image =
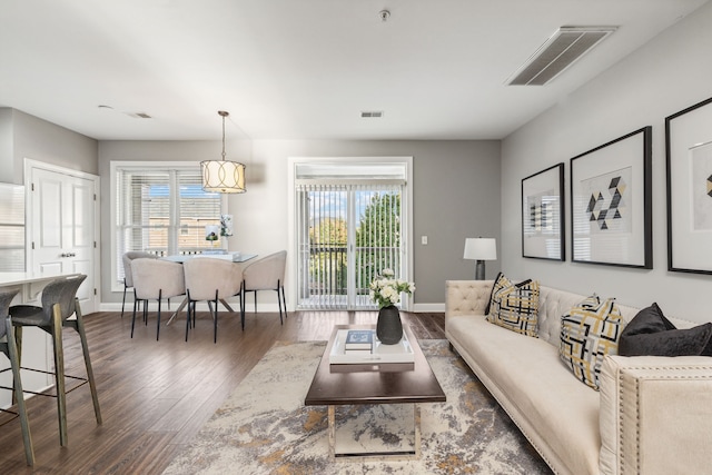
[[[243,316],[243,268],[231,260],[214,259],[210,257],[196,257],[186,260],[184,273],[186,275],[186,295],[188,296],[188,317],[186,320],[186,342],[190,329],[190,316],[195,327],[196,303],[208,303],[212,316],[212,343],[218,342],[218,301],[239,296],[240,317]]]

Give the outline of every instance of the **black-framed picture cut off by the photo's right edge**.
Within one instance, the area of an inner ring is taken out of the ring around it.
[[[712,98],[665,118],[668,269],[712,274]]]

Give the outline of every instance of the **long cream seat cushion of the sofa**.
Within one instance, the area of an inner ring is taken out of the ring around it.
[[[557,362],[557,347],[482,316],[453,318],[447,328],[453,345],[555,473],[599,473],[599,393]]]

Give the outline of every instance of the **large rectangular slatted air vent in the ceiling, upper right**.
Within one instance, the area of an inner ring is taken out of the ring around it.
[[[561,27],[507,80],[510,86],[544,86],[617,27]]]

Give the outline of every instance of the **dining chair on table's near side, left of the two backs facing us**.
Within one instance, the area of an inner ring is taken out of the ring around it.
[[[131,338],[136,326],[138,304],[144,303],[144,323],[148,325],[148,301],[158,300],[156,340],[160,336],[160,305],[164,298],[185,295],[186,283],[182,265],[169,260],[139,258],[131,261],[134,277],[134,316],[131,318]]]

